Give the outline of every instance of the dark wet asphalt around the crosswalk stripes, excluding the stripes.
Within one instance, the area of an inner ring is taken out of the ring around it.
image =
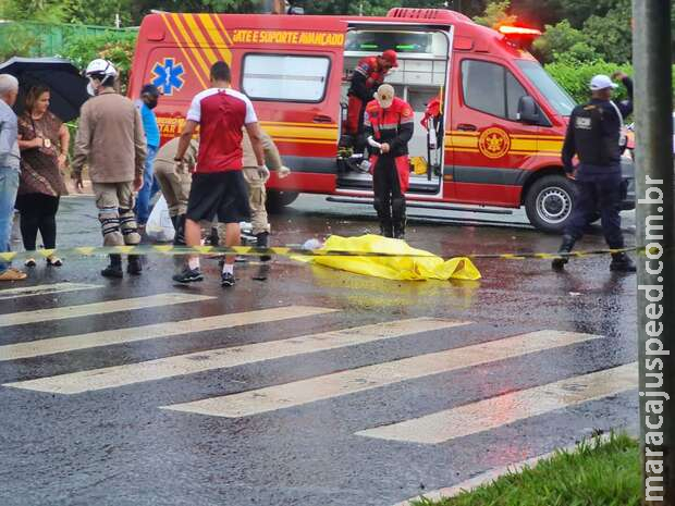
[[[466,217],[474,214],[434,215],[463,222],[412,219],[408,242],[444,257],[553,251],[559,244],[559,237],[525,225],[519,211],[496,226],[467,224]],[[624,220],[627,243],[634,244],[634,218],[624,214]],[[100,243],[90,198],[64,199],[59,224],[62,246]],[[359,235],[376,226],[368,207],[319,197],[302,197],[273,218],[275,244],[302,244],[329,233]],[[603,247],[599,231],[581,247]],[[2,288],[63,282],[100,287],[17,298],[2,298],[0,288],[0,322],[20,311],[157,294],[213,298],[9,324],[0,326],[0,346],[286,306],[338,311],[0,360],[1,505],[391,506],[596,430],[636,430],[637,396],[628,390],[439,444],[356,434],[635,361],[635,276],[610,273],[608,258],[576,260],[563,274],[553,273],[547,260],[481,260],[483,280],[475,283],[395,282],[277,259],[266,282],[250,279],[256,266],[237,264],[238,284],[226,292],[219,286],[214,260],[202,261],[208,279],[189,288],[171,283],[168,258],[147,259],[143,276],[123,281],[102,280],[103,262],[68,258],[58,270],[40,263],[27,283]],[[73,395],[7,386],[416,317],[470,324]],[[541,330],[602,337],[241,418],[160,409]],[[518,406],[500,409],[507,418]]]

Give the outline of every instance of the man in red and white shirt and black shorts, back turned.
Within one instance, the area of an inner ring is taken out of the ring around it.
[[[199,125],[199,152],[193,176],[185,221],[187,246],[199,246],[201,229],[199,222],[218,221],[226,225],[226,246],[238,246],[240,221],[248,220],[248,193],[242,174],[242,128],[246,127],[258,169],[267,178],[265,153],[256,112],[248,98],[230,87],[230,66],[222,61],[211,67],[211,88],[201,91],[194,99],[187,112],[185,127],[176,151],[176,170],[183,171],[183,157]],[[199,257],[189,257],[183,272],[173,276],[179,283],[204,281],[199,269]],[[232,286],[234,279],[234,256],[228,256],[223,266],[222,286]]]

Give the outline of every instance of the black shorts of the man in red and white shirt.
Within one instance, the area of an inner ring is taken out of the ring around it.
[[[248,188],[242,171],[196,173],[189,188],[187,218],[193,221],[248,221]]]

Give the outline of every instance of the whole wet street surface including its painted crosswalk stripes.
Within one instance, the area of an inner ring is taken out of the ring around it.
[[[99,243],[91,206],[64,200],[63,245]],[[303,197],[273,240],[360,235],[372,217]],[[514,217],[413,218],[407,235],[443,257],[555,250]],[[169,258],[113,282],[103,259],[65,260],[0,287],[2,505],[391,506],[636,427],[635,277],[608,258],[480,260],[471,283],[279,258],[266,282],[237,264],[231,291],[216,260],[187,288]]]

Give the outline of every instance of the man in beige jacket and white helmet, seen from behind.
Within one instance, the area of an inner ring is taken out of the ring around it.
[[[140,235],[133,211],[134,190],[143,186],[146,157],[140,115],[130,99],[114,90],[118,73],[112,63],[94,60],[87,66],[86,76],[94,97],[82,107],[73,178],[77,188],[82,188],[82,170],[88,166],[103,245],[137,245]],[[139,257],[130,255],[127,272],[140,274],[140,271]],[[122,257],[110,255],[110,266],[101,274],[122,277]]]

